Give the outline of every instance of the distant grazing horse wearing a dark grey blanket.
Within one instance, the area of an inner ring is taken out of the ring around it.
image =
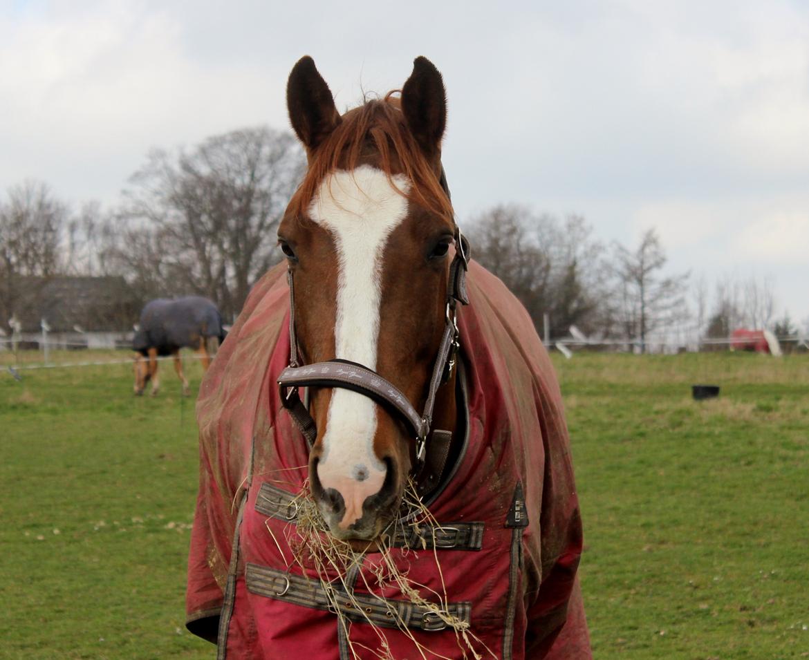
[[[157,395],[160,389],[157,358],[172,355],[174,370],[183,383],[183,396],[188,396],[188,380],[183,374],[180,349],[197,351],[202,369],[207,371],[211,357],[216,354],[223,339],[222,317],[214,302],[208,298],[186,296],[157,298],[147,302],[132,341],[135,351],[135,394],[141,396],[146,383],[151,381],[151,396]]]

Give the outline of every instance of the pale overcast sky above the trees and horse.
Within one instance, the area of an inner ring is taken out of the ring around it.
[[[0,0],[0,188],[114,203],[151,147],[286,128],[303,54],[341,109],[438,66],[462,222],[510,201],[604,241],[654,226],[672,271],[773,277],[809,318],[803,0]]]

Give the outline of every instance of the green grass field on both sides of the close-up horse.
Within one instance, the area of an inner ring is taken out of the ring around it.
[[[171,366],[151,399],[127,365],[17,382],[10,359],[0,657],[213,658],[184,630],[197,441]],[[809,657],[809,356],[554,360],[595,658]],[[693,383],[722,394],[694,402]]]

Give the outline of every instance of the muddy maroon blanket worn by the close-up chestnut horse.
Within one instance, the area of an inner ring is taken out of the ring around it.
[[[392,658],[421,658],[415,641],[464,657],[454,630],[377,580],[379,552],[339,578],[352,598],[337,604],[290,559],[308,450],[276,385],[289,358],[285,274],[278,266],[254,287],[202,383],[188,628],[218,640],[221,658],[375,658],[380,630]],[[439,525],[430,544],[392,548],[392,560],[426,600],[446,594],[443,607],[469,622],[484,658],[591,658],[576,577],[582,527],[553,366],[501,281],[472,263],[468,289],[458,315],[465,448],[430,503]]]

